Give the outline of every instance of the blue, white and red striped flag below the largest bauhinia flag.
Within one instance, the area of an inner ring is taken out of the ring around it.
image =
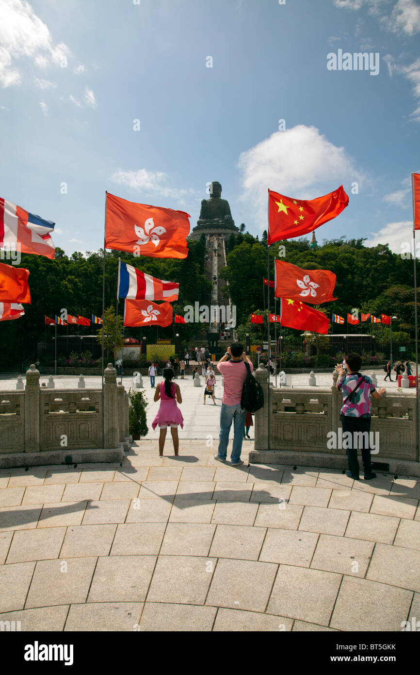
[[[178,300],[179,284],[175,281],[155,279],[149,274],[141,272],[127,263],[119,263],[118,267],[118,298],[128,300]]]

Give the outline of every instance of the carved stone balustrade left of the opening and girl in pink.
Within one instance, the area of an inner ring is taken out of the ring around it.
[[[0,393],[0,468],[121,462],[132,439],[115,368],[104,371],[103,402],[102,389],[42,388],[39,377],[31,365],[24,391]]]

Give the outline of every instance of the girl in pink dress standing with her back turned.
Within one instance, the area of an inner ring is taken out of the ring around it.
[[[158,414],[152,422],[152,428],[156,429],[159,426],[159,456],[163,457],[164,439],[167,436],[167,428],[171,427],[173,450],[175,457],[177,457],[179,449],[178,425],[181,425],[181,429],[184,426],[181,410],[177,406],[177,402],[182,403],[181,390],[179,389],[179,385],[172,381],[173,377],[175,377],[172,368],[165,368],[163,377],[164,380],[156,387],[156,391],[154,392],[154,401],[160,399],[160,407]]]

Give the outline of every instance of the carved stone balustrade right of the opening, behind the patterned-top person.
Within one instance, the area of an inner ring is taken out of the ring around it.
[[[268,371],[260,365],[255,374],[264,390],[265,404],[255,414],[255,450],[250,452],[249,461],[347,468],[337,373],[332,375],[331,387],[280,389],[270,384],[270,450]],[[376,446],[372,461],[388,464],[390,472],[420,476],[415,404],[413,390],[371,398],[371,448]],[[336,443],[331,432],[336,434]]]

